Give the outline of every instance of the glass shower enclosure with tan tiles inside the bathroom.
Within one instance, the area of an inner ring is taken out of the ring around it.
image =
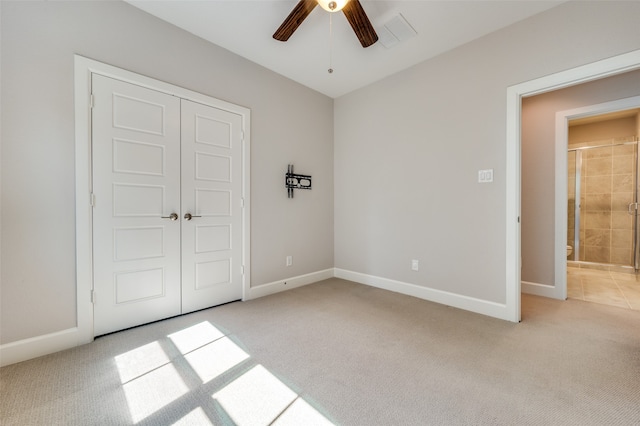
[[[568,152],[568,260],[638,269],[637,157],[635,142]]]

